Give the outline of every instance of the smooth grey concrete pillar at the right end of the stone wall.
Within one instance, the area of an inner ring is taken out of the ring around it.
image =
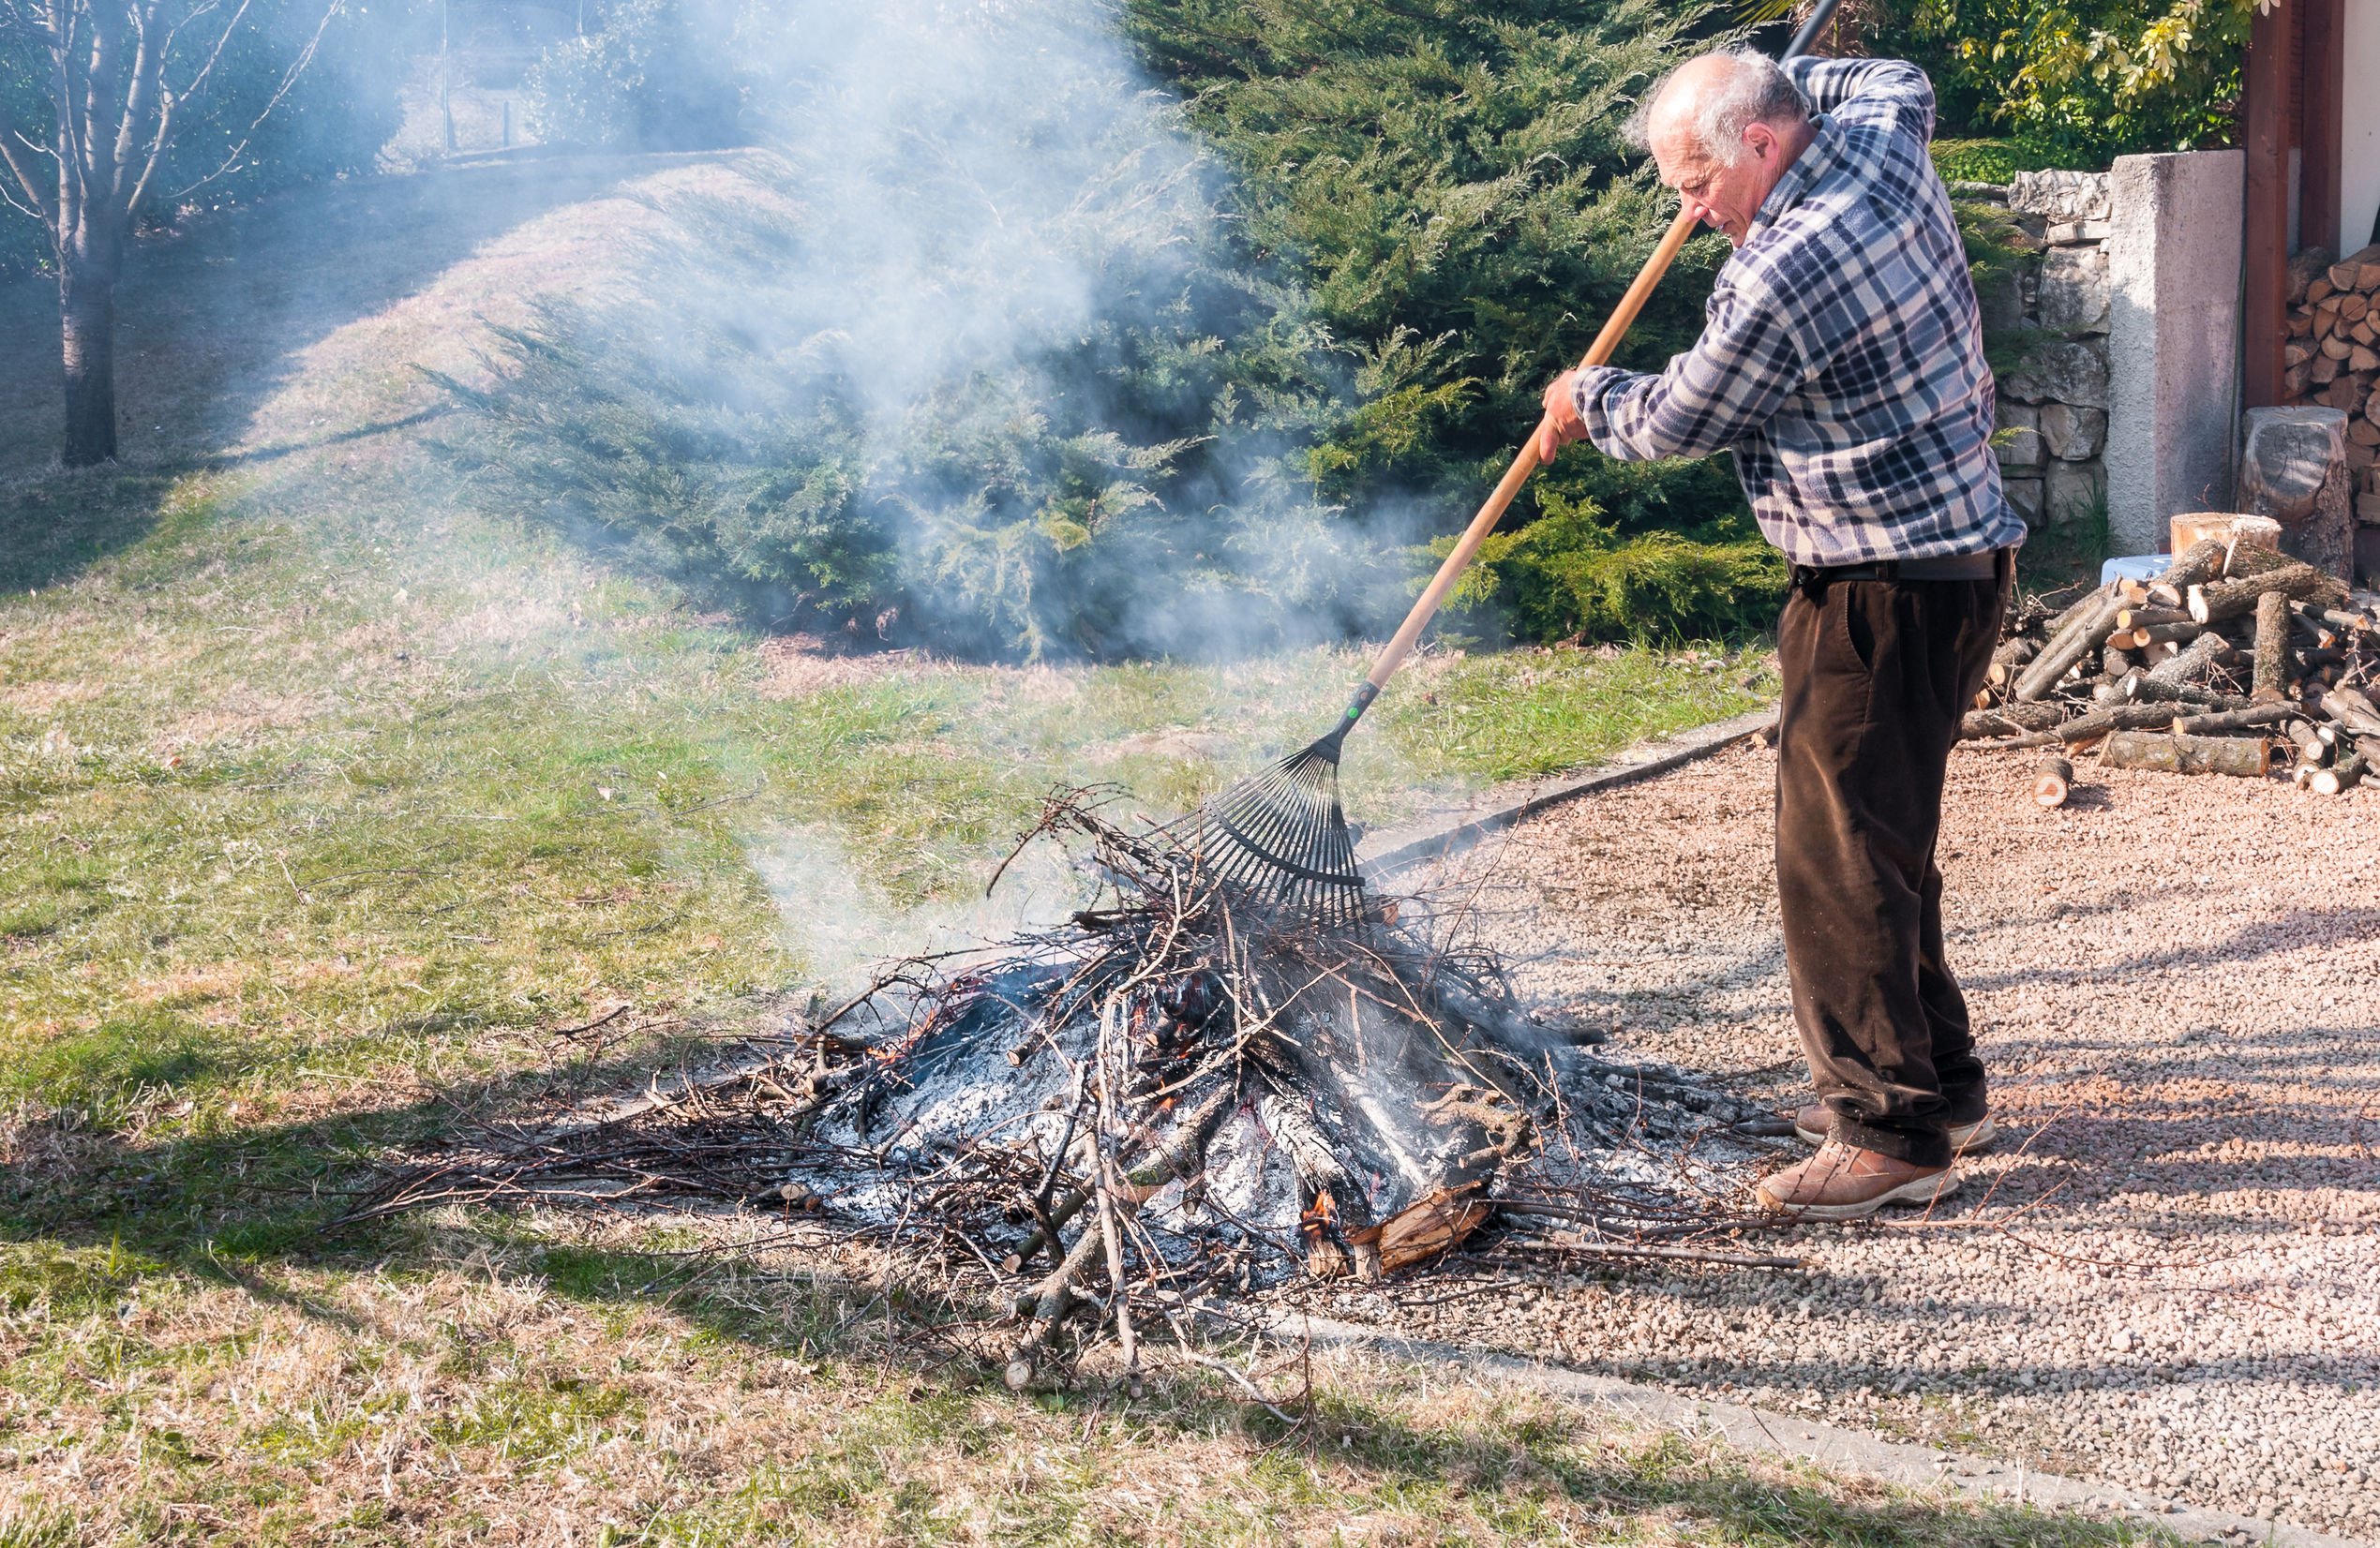
[[[2111,174],[2106,514],[2118,554],[2230,504],[2240,376],[2237,150],[2116,157]]]

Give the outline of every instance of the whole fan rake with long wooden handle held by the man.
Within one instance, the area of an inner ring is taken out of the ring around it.
[[[1785,50],[1787,59],[1809,52],[1818,31],[1835,14],[1835,2],[1818,0],[1811,7],[1811,14]],[[1678,247],[1685,245],[1685,238],[1695,235],[1695,224],[1692,214],[1685,209],[1678,212],[1678,219],[1668,224],[1661,243],[1628,285],[1621,304],[1611,309],[1604,331],[1595,335],[1595,345],[1580,366],[1602,366],[1611,359],[1611,352],[1618,350],[1621,338],[1628,333],[1628,323],[1635,321],[1652,288],[1661,283],[1671,259],[1678,257]],[[1414,611],[1404,616],[1395,637],[1373,659],[1364,680],[1357,682],[1338,725],[1264,773],[1240,780],[1171,828],[1169,837],[1204,863],[1209,875],[1280,913],[1311,918],[1326,930],[1349,930],[1371,918],[1364,901],[1364,873],[1354,858],[1354,832],[1347,828],[1347,811],[1340,806],[1338,794],[1340,747],[1347,742],[1354,723],[1364,718],[1364,711],[1371,709],[1371,701],[1388,687],[1388,680],[1404,666],[1404,659],[1414,654],[1421,630],[1428,628],[1447,592],[1454,590],[1454,583],[1471,566],[1480,545],[1488,542],[1488,533],[1504,518],[1504,509],[1535,471],[1537,435],[1530,433],[1521,445],[1521,454],[1504,468],[1504,478],[1497,480],[1495,492],[1488,495],[1488,504],[1478,509],[1454,552],[1438,566],[1430,585],[1421,590]]]

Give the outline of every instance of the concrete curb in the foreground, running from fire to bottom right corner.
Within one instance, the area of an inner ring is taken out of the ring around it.
[[[2054,1472],[2030,1472],[2016,1462],[1997,1462],[1937,1446],[1911,1446],[1904,1441],[1880,1441],[1856,1429],[1821,1424],[1795,1415],[1747,1408],[1742,1403],[1718,1403],[1711,1398],[1687,1398],[1659,1386],[1637,1386],[1616,1377],[1592,1377],[1559,1365],[1542,1365],[1518,1355],[1499,1355],[1457,1344],[1409,1339],[1404,1334],[1366,1327],[1361,1322],[1338,1322],[1288,1313],[1269,1327],[1273,1339],[1311,1339],[1326,1348],[1359,1348],[1395,1360],[1421,1365],[1452,1365],[1495,1382],[1509,1382],[1530,1391],[1597,1408],[1602,1412],[1678,1429],[1690,1436],[1714,1439],[1735,1451],[1771,1455],[1797,1462],[1816,1462],[1830,1472],[1859,1472],[1904,1489],[1942,1489],[1952,1496],[1975,1496],[2040,1505],[2044,1510],[2073,1510],[2097,1515],[2123,1515],[2149,1527],[2159,1527],[2190,1541],[2221,1543],[2273,1543],[2275,1548],[2373,1548],[2361,1538],[2328,1536],[2287,1522],[2259,1522],[2223,1510],[2199,1510],[2159,1496],[2137,1493],[2116,1484],[2092,1484],[2059,1477]]]

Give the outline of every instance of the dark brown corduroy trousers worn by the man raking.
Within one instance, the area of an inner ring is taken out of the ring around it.
[[[1983,1061],[1942,961],[1942,775],[2013,578],[1814,580],[1778,623],[1778,913],[1835,1139],[1947,1165]]]

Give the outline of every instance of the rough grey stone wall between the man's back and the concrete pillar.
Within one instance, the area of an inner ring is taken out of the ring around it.
[[[2106,499],[2109,174],[2023,171],[1994,200],[2040,243],[2009,290],[1983,300],[1985,328],[2023,328],[2023,361],[1999,378],[1999,476],[2028,526],[2073,521]]]

